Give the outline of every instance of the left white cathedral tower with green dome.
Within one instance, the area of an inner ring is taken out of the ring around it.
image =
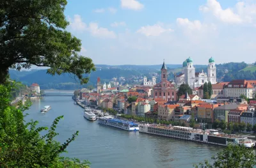
[[[195,67],[193,66],[193,60],[191,57],[187,59],[187,67],[185,68],[184,72],[186,84],[188,84],[191,88],[194,88]]]

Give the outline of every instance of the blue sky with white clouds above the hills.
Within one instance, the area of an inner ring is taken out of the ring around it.
[[[73,0],[65,15],[95,64],[256,61],[253,0]]]

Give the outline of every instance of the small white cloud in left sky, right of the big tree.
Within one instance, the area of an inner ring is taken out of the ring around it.
[[[109,31],[104,27],[99,27],[95,22],[89,24],[88,31],[90,31],[92,36],[97,36],[99,38],[116,38],[114,31]]]

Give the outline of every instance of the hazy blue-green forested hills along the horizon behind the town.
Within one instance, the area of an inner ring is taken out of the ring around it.
[[[14,80],[30,85],[36,82],[42,89],[78,89],[88,86],[95,87],[97,77],[103,82],[108,82],[113,77],[125,77],[131,84],[133,77],[151,77],[152,73],[160,73],[161,65],[96,65],[97,71],[92,72],[88,84],[81,86],[74,75],[63,74],[51,76],[46,73],[47,70],[31,70],[18,72],[10,70],[10,77]],[[173,80],[173,75],[181,72],[182,65],[167,65],[168,79]],[[195,65],[196,72],[204,70],[207,72],[207,65]],[[256,79],[256,65],[246,63],[225,63],[216,65],[217,77],[219,81],[230,81],[233,79]],[[157,79],[159,80],[159,79]]]

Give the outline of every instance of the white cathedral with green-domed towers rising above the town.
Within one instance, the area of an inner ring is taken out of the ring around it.
[[[217,82],[216,66],[212,57],[209,59],[207,73],[203,70],[202,72],[195,72],[193,60],[189,57],[183,62],[182,72],[175,76],[175,83],[178,86],[188,84],[190,88],[197,88],[202,86],[205,82],[211,82],[212,84],[216,84]]]

